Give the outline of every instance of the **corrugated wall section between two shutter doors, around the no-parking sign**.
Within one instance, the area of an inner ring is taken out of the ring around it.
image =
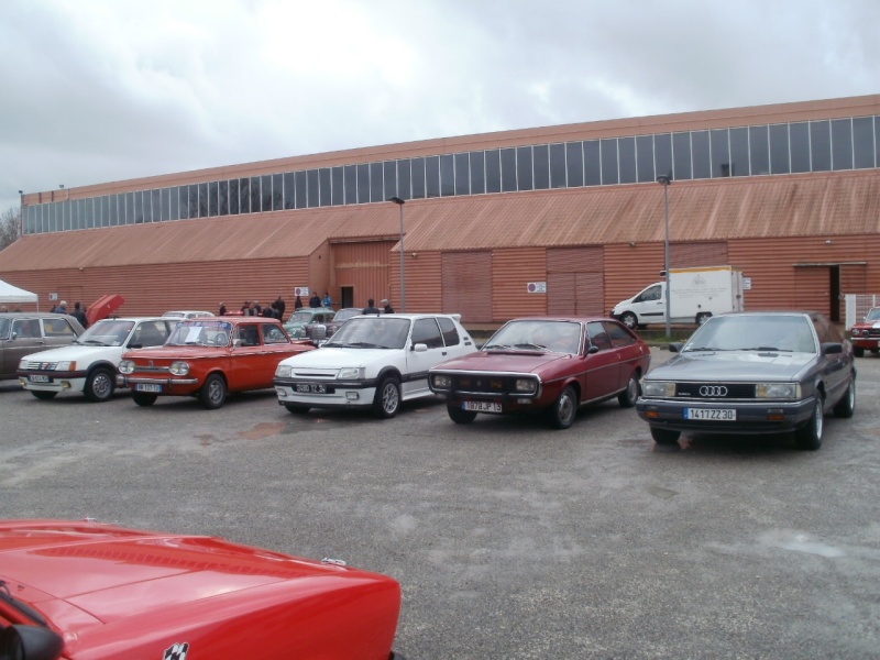
[[[529,293],[528,284],[547,282],[543,248],[495,250],[492,253],[492,320],[547,314],[548,293]]]

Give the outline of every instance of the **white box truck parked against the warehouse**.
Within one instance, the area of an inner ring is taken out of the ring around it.
[[[743,272],[733,266],[670,268],[670,322],[706,322],[711,316],[743,311]],[[656,282],[615,305],[612,316],[629,328],[667,322],[667,283]]]

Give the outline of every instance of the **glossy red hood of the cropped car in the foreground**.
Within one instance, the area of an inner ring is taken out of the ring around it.
[[[286,583],[295,601],[391,579],[212,537],[4,520],[0,580],[70,632],[273,583]]]

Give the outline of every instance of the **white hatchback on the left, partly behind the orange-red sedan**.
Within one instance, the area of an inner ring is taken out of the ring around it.
[[[161,317],[101,319],[67,346],[23,356],[19,383],[38,399],[81,392],[90,402],[109,400],[124,385],[117,376],[122,354],[162,345],[173,327],[172,319]]]

